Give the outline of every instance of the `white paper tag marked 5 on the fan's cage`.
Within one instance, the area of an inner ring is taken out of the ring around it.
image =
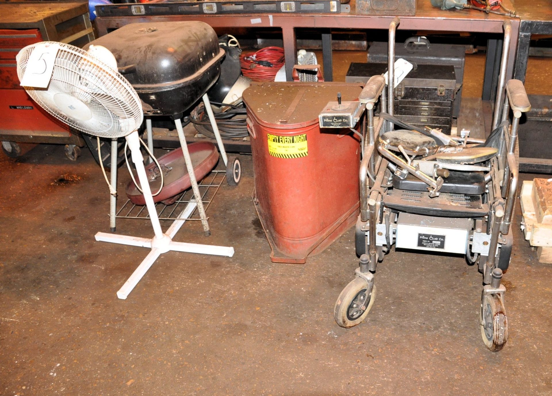
[[[54,72],[54,62],[60,46],[57,44],[36,45],[29,56],[20,86],[47,88]]]

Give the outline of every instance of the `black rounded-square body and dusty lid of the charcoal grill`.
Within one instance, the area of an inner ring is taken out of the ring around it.
[[[178,115],[213,86],[225,52],[208,24],[131,23],[84,47],[110,50],[142,101],[144,114]]]

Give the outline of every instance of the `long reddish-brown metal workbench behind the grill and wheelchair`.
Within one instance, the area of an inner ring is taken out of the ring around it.
[[[513,8],[511,1],[505,0],[508,8]],[[297,47],[295,30],[301,28],[319,30],[322,35],[323,69],[326,81],[332,81],[331,29],[388,29],[392,17],[357,15],[354,12],[354,0],[351,1],[351,13],[339,14],[210,14],[210,15],[147,15],[132,17],[96,18],[98,34],[104,35],[132,22],[200,20],[213,28],[274,28],[282,29],[285,52],[286,78],[292,81],[291,71],[296,64]],[[474,32],[502,34],[502,15],[485,14],[473,10],[443,11],[432,7],[429,1],[418,1],[415,17],[400,17],[399,30],[433,30],[448,32]],[[512,23],[512,46],[509,56],[508,72],[513,72],[516,54],[516,43],[519,31],[519,19],[509,18]],[[492,70],[498,75],[494,64],[495,54],[490,54]],[[487,56],[489,59],[489,55]],[[500,56],[499,56],[500,59]],[[490,74],[489,74],[490,75]]]

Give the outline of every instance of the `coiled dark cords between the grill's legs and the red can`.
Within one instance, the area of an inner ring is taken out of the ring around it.
[[[249,136],[247,132],[246,109],[243,103],[240,105],[211,102],[217,106],[223,106],[225,111],[215,113],[216,125],[219,127],[220,136],[225,139],[243,139]],[[190,114],[190,122],[201,135],[214,139],[215,134],[205,113],[205,105],[199,104]]]

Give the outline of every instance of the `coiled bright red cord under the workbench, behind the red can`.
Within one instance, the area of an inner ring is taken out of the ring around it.
[[[257,63],[259,61],[262,64]],[[265,65],[267,63],[272,66]],[[253,81],[274,81],[276,73],[284,64],[282,47],[266,47],[240,56],[242,74]]]

